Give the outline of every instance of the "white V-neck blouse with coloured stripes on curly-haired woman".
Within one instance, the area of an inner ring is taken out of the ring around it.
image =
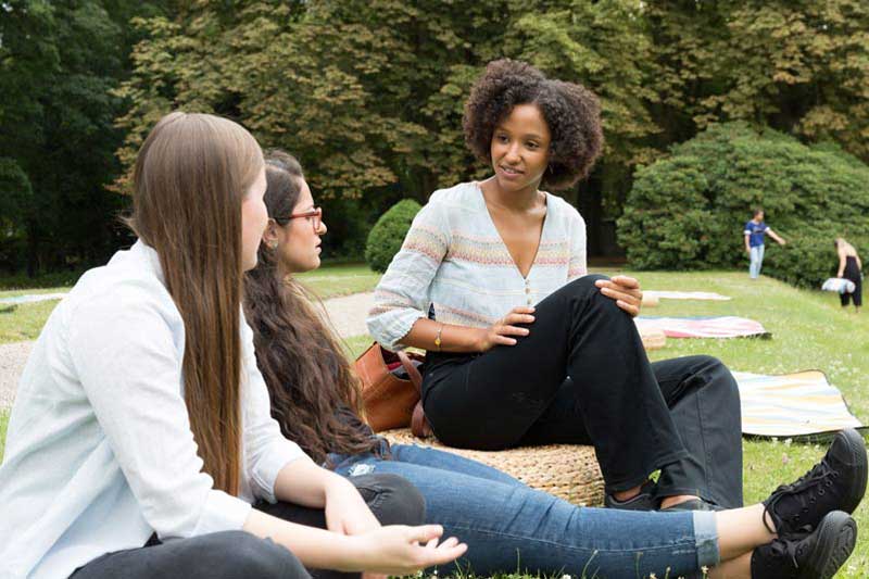
[[[546,193],[540,247],[522,277],[479,184],[463,182],[434,191],[414,218],[375,290],[368,330],[394,350],[430,311],[438,322],[487,327],[585,273],[585,222],[572,205]]]

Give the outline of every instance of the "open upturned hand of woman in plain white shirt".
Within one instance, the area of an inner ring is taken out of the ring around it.
[[[451,537],[438,544],[440,525],[404,527],[391,525],[353,537],[353,568],[387,575],[411,575],[461,557],[467,545]]]

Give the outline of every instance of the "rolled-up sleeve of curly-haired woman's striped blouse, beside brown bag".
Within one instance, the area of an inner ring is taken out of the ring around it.
[[[450,248],[445,211],[433,200],[420,210],[375,289],[368,331],[390,350],[401,349],[401,339],[428,315],[431,280]]]

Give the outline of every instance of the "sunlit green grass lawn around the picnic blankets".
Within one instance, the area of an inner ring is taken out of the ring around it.
[[[596,272],[615,273],[613,269]],[[834,294],[797,290],[768,278],[752,282],[742,272],[641,272],[631,275],[638,276],[646,290],[717,291],[733,298],[729,302],[662,300],[660,306],[645,309],[645,315],[740,315],[761,322],[773,336],[772,340],[668,339],[664,350],[651,353],[652,360],[704,353],[721,358],[734,370],[777,374],[818,368],[842,390],[855,414],[864,420],[869,419],[869,394],[866,392],[869,382],[869,314],[843,312]],[[379,276],[364,266],[335,266],[324,267],[303,278],[327,299],[368,291]],[[0,314],[0,339],[22,339],[13,337],[14,328],[18,328],[18,336],[36,336],[54,303],[18,306],[13,313]],[[28,311],[30,309],[34,311]],[[348,338],[345,343],[348,351],[355,356],[370,341],[368,336],[356,336]],[[8,419],[8,412],[0,411],[0,454]],[[826,443],[822,442],[744,441],[746,503],[760,501],[779,483],[796,479],[820,458],[824,450]],[[869,532],[866,503],[855,517],[861,532]],[[848,565],[836,577],[869,577],[868,541],[861,539],[858,542]]]

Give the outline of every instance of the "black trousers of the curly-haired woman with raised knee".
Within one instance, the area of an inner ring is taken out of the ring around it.
[[[423,397],[436,435],[479,450],[593,444],[609,493],[660,469],[659,496],[741,506],[732,376],[707,356],[650,364],[633,320],[596,279],[584,276],[540,302],[516,345],[429,353]]]

